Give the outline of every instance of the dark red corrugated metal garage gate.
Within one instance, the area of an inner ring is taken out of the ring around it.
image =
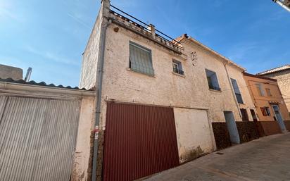
[[[179,165],[173,108],[107,104],[103,180],[136,180]]]

